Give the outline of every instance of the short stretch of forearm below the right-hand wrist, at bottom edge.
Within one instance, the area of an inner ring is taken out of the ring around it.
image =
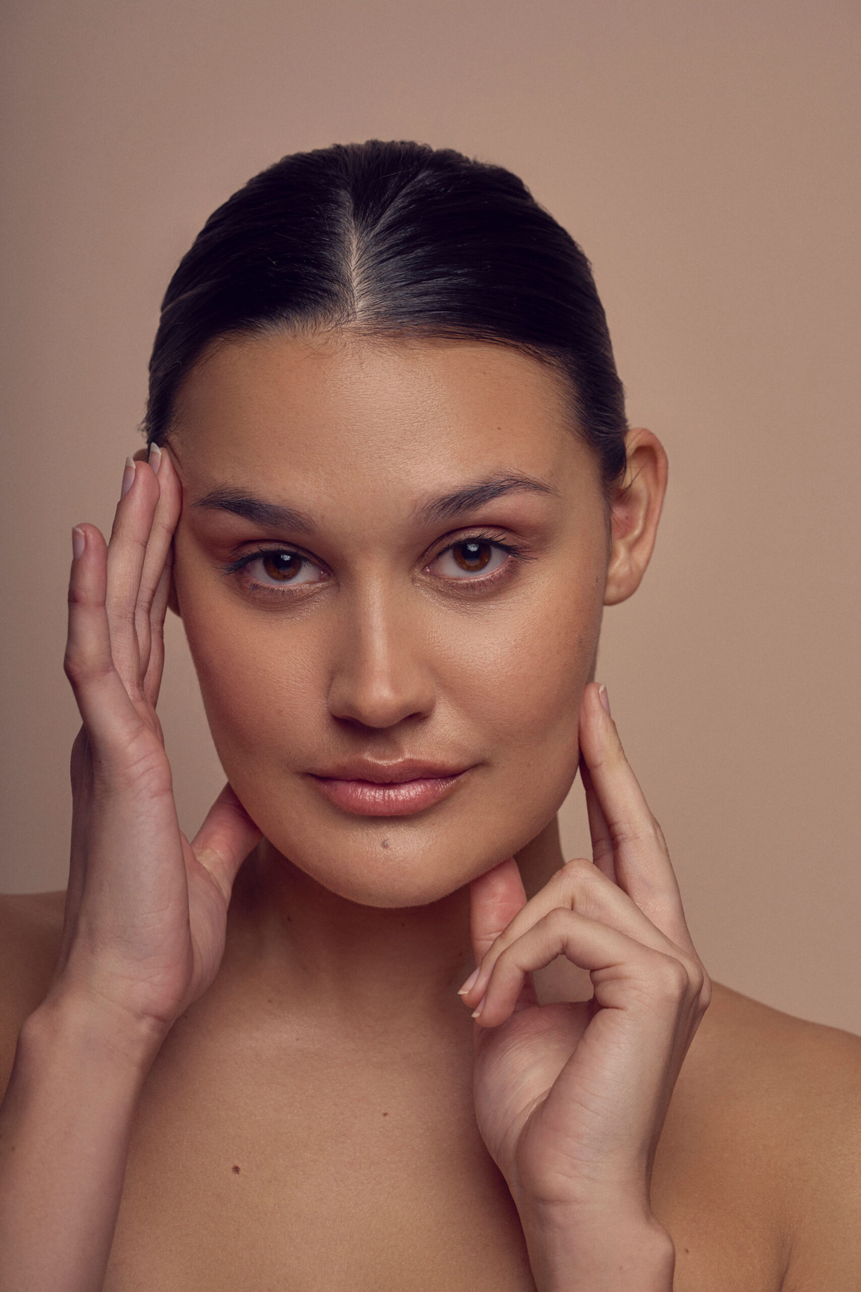
[[[673,1292],[673,1240],[651,1216],[559,1212],[524,1233],[538,1292]]]

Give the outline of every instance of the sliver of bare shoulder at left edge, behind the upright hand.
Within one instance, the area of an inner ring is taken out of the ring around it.
[[[0,1089],[25,1018],[48,991],[63,928],[65,893],[0,894]]]

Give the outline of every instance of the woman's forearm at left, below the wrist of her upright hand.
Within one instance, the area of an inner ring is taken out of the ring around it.
[[[0,1287],[98,1292],[159,1039],[83,1003],[25,1023],[0,1107]]]

